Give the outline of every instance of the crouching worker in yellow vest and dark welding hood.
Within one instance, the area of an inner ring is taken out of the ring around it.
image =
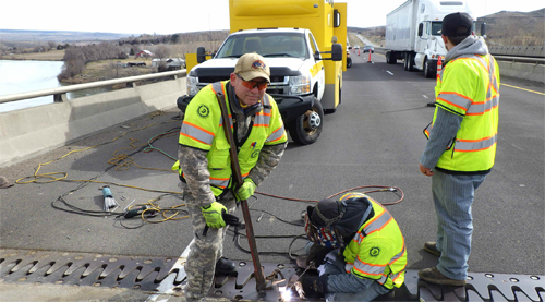
[[[305,231],[313,243],[306,263],[319,273],[301,277],[305,297],[367,302],[403,283],[403,234],[388,210],[367,195],[348,193],[308,206]]]

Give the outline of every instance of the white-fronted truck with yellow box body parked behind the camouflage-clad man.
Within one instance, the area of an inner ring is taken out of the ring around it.
[[[341,102],[347,53],[347,3],[332,0],[230,0],[230,35],[208,59],[204,47],[186,55],[187,95],[178,99],[184,111],[203,87],[228,80],[238,59],[263,56],[270,68],[267,94],[278,104],[293,142],[316,142],[324,111]],[[337,43],[339,41],[339,43]]]

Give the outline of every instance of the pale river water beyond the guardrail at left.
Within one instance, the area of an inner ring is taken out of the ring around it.
[[[57,80],[61,73],[62,61],[15,61],[0,60],[0,96],[28,93],[41,89],[51,89],[63,86]],[[69,93],[68,98],[92,95],[108,90],[95,88],[94,90],[80,90]],[[44,96],[32,99],[16,100],[0,104],[0,112],[12,111],[34,106],[52,104],[53,96]]]

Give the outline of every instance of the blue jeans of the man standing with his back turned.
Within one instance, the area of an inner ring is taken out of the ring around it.
[[[441,252],[437,269],[450,279],[465,280],[468,277],[473,233],[471,205],[475,190],[485,177],[434,170],[432,192],[437,215],[437,250]]]

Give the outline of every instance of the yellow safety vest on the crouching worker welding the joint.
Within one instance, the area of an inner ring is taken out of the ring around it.
[[[403,234],[390,213],[367,196],[375,215],[360,227],[344,249],[347,273],[378,281],[388,289],[401,287],[407,267]]]

